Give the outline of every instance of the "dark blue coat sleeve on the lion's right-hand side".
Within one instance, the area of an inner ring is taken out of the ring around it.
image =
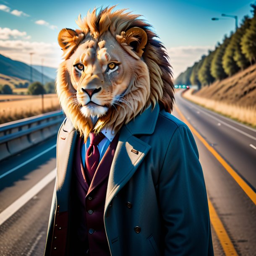
[[[212,256],[204,176],[196,142],[185,125],[176,128],[159,174],[165,256]]]

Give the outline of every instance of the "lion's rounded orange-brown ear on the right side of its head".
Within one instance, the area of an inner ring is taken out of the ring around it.
[[[141,58],[143,49],[146,46],[148,37],[146,32],[139,28],[133,27],[125,31],[126,43],[133,48],[133,51]]]

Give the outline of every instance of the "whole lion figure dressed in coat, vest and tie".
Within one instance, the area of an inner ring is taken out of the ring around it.
[[[196,142],[170,113],[166,49],[140,15],[114,8],[58,35],[67,118],[44,255],[213,256]]]

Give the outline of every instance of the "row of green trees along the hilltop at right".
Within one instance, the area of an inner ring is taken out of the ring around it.
[[[175,79],[175,84],[194,85],[199,88],[232,76],[256,63],[256,4],[251,4],[253,17],[244,16],[240,27],[225,35],[222,44],[203,55]]]

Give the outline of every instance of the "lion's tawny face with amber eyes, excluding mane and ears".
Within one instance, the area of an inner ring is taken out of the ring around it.
[[[73,100],[77,100],[82,114],[101,117],[111,106],[124,101],[139,64],[109,31],[96,40],[87,37],[67,62],[76,90]]]

